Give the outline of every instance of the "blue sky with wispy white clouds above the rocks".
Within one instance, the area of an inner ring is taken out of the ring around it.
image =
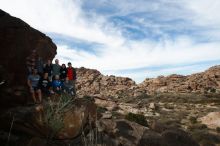
[[[220,64],[219,0],[0,0],[46,33],[56,58],[136,82]]]

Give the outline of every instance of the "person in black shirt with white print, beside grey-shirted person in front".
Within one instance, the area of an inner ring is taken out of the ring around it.
[[[44,76],[40,79],[39,87],[40,87],[42,93],[44,93],[46,95],[50,95],[51,82],[48,78],[48,73],[44,73]]]

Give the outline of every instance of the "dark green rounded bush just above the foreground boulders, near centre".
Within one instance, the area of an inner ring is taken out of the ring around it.
[[[143,126],[148,126],[148,122],[145,119],[145,116],[141,115],[141,114],[128,113],[125,116],[125,119],[132,121],[132,122],[136,122],[136,123],[143,125]]]

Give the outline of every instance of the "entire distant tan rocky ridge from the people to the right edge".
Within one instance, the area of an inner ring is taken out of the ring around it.
[[[170,75],[147,78],[140,84],[126,77],[104,76],[94,69],[77,69],[79,95],[101,97],[138,97],[154,93],[208,93],[220,92],[220,66],[188,76]]]

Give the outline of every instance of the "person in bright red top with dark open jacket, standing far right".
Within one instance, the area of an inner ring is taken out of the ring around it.
[[[76,69],[72,67],[71,62],[68,63],[67,67],[67,77],[69,79],[69,82],[73,85],[73,92],[74,95],[76,95],[76,88],[75,88],[75,83],[76,83]]]

